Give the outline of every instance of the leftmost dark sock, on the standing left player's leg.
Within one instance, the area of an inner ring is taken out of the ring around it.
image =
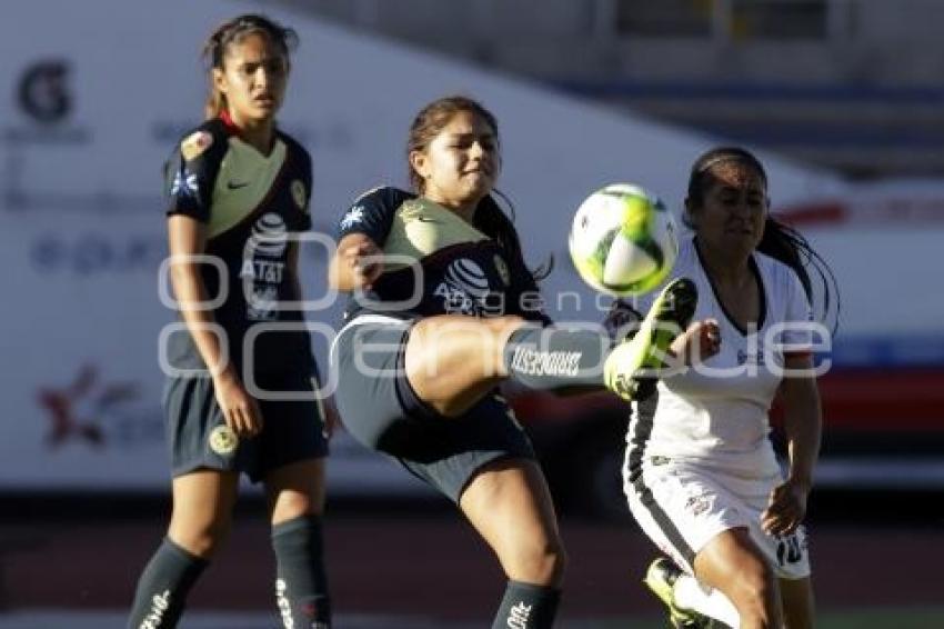
[[[187,595],[208,563],[164,538],[138,579],[128,628],[177,627]]]

